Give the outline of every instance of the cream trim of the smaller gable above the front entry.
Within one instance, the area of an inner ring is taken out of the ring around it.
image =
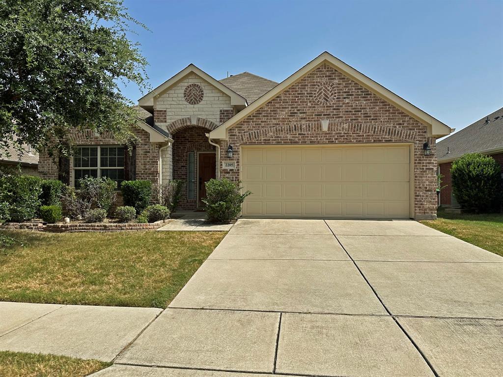
[[[221,92],[225,93],[227,96],[230,97],[230,104],[232,106],[234,105],[242,105],[246,106],[246,100],[238,95],[235,91],[232,89],[228,88],[218,80],[214,79],[211,77],[209,74],[206,72],[202,71],[198,67],[196,67],[194,64],[189,64],[186,68],[182,69],[180,72],[178,72],[176,75],[174,75],[172,78],[170,78],[167,81],[164,81],[162,84],[157,86],[155,89],[152,91],[148,92],[145,96],[140,98],[138,100],[138,105],[147,110],[147,111],[152,111],[153,110],[153,105],[154,105],[154,98],[159,96],[161,93],[163,93],[166,90],[169,90],[172,86],[176,85],[180,80],[182,80],[184,77],[186,77],[190,73],[195,73],[199,77],[201,77],[203,80],[207,81],[210,85],[213,85],[216,87],[218,90]]]

